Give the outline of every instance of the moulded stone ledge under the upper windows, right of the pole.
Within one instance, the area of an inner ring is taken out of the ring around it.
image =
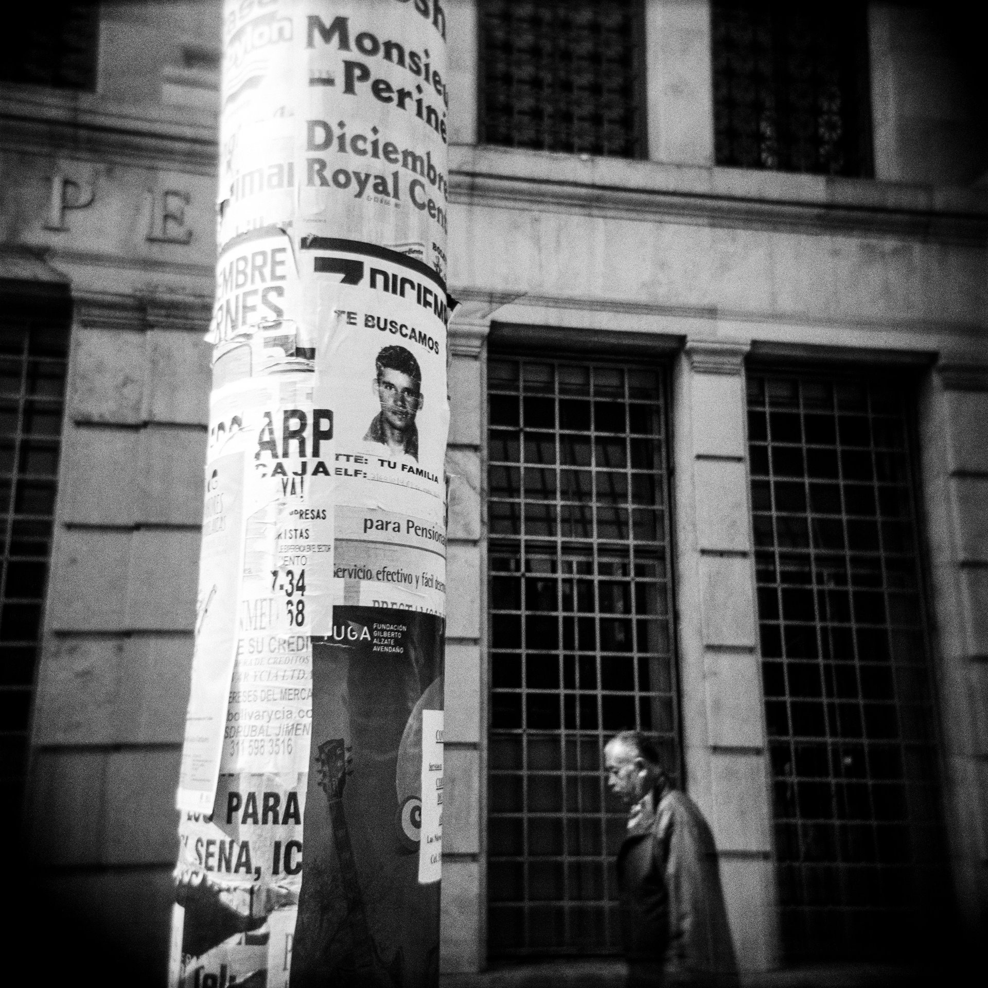
[[[454,145],[455,204],[988,244],[980,189]]]

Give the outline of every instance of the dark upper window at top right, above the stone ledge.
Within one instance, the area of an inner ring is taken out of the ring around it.
[[[713,0],[718,165],[870,175],[865,6]]]

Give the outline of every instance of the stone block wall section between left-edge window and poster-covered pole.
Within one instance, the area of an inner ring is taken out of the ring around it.
[[[47,894],[162,972],[209,368],[176,309],[76,302],[28,799]]]

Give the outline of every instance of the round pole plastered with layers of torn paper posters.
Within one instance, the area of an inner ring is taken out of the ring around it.
[[[224,4],[175,986],[438,981],[446,30]]]

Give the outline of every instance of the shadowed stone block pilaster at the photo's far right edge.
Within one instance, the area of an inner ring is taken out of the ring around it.
[[[988,925],[988,365],[943,359],[924,382],[919,446],[944,815],[965,944]]]

